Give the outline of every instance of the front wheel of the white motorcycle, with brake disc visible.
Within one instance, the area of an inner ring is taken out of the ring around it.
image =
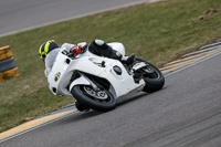
[[[71,93],[81,104],[98,112],[108,112],[116,106],[116,99],[106,90],[94,91],[88,85],[76,85]]]

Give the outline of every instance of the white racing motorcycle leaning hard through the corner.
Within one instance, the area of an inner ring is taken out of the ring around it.
[[[125,55],[122,43],[108,45]],[[126,65],[86,50],[74,59],[59,52],[48,83],[54,95],[74,97],[78,111],[92,108],[107,112],[116,107],[117,99],[141,91],[159,91],[165,84],[165,77],[156,66],[144,60],[135,59],[131,65]]]

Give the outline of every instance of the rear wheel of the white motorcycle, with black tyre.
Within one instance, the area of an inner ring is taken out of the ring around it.
[[[145,62],[147,64],[146,67],[140,69],[138,72],[141,72],[143,78],[146,83],[144,87],[144,92],[152,93],[159,91],[165,85],[165,76],[162,73],[151,63],[146,62],[140,59],[136,59],[139,62]]]

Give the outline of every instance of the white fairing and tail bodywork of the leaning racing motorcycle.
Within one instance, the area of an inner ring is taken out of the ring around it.
[[[109,43],[109,45],[122,54],[125,54],[125,48],[122,43]],[[105,67],[102,66],[102,63],[105,63]],[[114,66],[120,67],[120,75],[114,71]],[[52,93],[54,95],[72,96],[70,91],[73,86],[91,85],[88,78],[85,77],[84,74],[74,77],[77,72],[107,80],[110,83],[110,88],[107,91],[109,91],[115,98],[137,93],[145,86],[144,80],[139,81],[138,84],[135,83],[133,75],[128,74],[119,61],[97,56],[87,50],[74,60],[61,52],[57,54],[54,65],[48,76],[49,87]]]

